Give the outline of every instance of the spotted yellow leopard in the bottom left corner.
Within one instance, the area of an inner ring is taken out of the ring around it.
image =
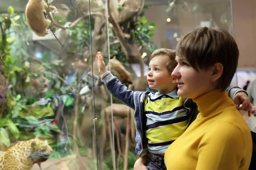
[[[47,141],[35,138],[18,142],[5,152],[0,152],[0,170],[31,170],[33,164],[40,166],[51,153],[52,148]]]

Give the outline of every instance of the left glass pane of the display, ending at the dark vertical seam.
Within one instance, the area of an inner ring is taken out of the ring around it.
[[[42,169],[97,169],[99,108],[84,79],[92,68],[89,8],[82,14],[70,0],[32,2],[0,1],[0,150],[26,150],[10,148],[17,142],[44,149],[47,141],[44,157],[30,155]]]

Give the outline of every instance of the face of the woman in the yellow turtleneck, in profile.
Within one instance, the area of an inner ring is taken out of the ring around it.
[[[182,97],[194,99],[202,94],[212,91],[212,69],[196,71],[186,59],[176,56],[177,66],[172,77],[177,79],[177,94]]]

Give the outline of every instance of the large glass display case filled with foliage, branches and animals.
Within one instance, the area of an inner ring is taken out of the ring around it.
[[[132,170],[146,153],[135,151],[134,110],[87,77],[98,51],[128,89],[154,91],[146,75],[155,49],[175,49],[198,27],[234,32],[231,0],[48,0],[38,12],[51,21],[43,37],[26,4],[0,2],[0,149],[47,140],[53,151],[38,161],[45,170]]]

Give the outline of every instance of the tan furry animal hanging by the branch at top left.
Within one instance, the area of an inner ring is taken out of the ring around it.
[[[44,37],[49,34],[47,27],[51,21],[44,17],[44,0],[29,0],[25,14],[29,27],[37,36]]]

